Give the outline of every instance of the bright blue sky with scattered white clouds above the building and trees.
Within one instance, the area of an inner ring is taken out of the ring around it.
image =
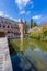
[[[0,16],[42,23],[47,21],[47,0],[0,0]]]

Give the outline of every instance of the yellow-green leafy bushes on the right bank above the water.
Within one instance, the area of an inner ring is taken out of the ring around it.
[[[47,27],[42,27],[40,31],[33,31],[30,36],[39,40],[47,40]]]

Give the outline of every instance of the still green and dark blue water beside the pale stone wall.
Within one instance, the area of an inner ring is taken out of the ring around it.
[[[12,43],[19,47],[17,54],[11,57],[12,66],[19,64],[20,67],[17,66],[16,68],[20,68],[20,71],[47,71],[46,42],[26,38],[13,39]],[[15,47],[15,50],[17,49]]]

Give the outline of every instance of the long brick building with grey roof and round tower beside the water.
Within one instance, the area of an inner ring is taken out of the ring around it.
[[[23,37],[23,22],[15,22],[0,16],[0,36],[4,35],[2,32],[5,33],[8,38]]]

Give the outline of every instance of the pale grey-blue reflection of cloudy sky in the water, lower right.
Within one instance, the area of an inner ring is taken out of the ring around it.
[[[39,48],[35,48],[33,51],[27,48],[24,56],[33,62],[39,71],[45,71],[47,69],[47,54],[45,56],[45,52],[42,52]]]

